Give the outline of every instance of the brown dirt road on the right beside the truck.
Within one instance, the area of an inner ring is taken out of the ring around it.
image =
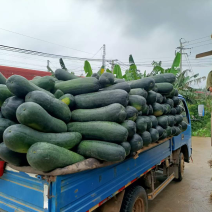
[[[149,212],[212,212],[211,138],[193,137],[192,148],[193,163],[185,164],[184,179],[149,201]]]

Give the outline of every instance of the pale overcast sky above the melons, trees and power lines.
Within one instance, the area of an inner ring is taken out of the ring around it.
[[[186,47],[195,48],[185,52],[193,73],[207,76],[212,70],[212,56],[195,59],[197,53],[212,50],[212,0],[0,0],[0,3],[0,45],[91,58],[105,44],[106,58],[125,63],[122,70],[127,68],[132,54],[139,70],[151,71],[153,60],[161,60],[165,68],[171,65],[180,38],[186,41],[202,38],[186,43]],[[101,57],[100,50],[94,58]],[[1,65],[46,70],[47,59],[52,69],[60,67],[58,59],[0,51]],[[183,60],[186,69],[185,56]],[[65,63],[70,70],[83,74],[82,61],[65,60]],[[91,65],[97,71],[101,62]]]

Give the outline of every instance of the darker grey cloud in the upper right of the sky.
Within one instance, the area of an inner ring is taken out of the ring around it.
[[[111,22],[122,26],[123,36],[145,38],[160,27],[178,37],[193,38],[211,32],[211,0],[107,0],[101,1],[99,8]]]

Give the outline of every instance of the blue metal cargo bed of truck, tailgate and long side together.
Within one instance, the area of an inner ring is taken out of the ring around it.
[[[5,211],[92,211],[172,153],[171,139],[121,163],[43,179],[7,168],[0,178]]]

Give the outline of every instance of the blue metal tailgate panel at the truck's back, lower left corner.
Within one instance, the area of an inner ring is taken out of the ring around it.
[[[5,170],[0,178],[0,208],[8,211],[43,212],[43,181],[23,172]]]

